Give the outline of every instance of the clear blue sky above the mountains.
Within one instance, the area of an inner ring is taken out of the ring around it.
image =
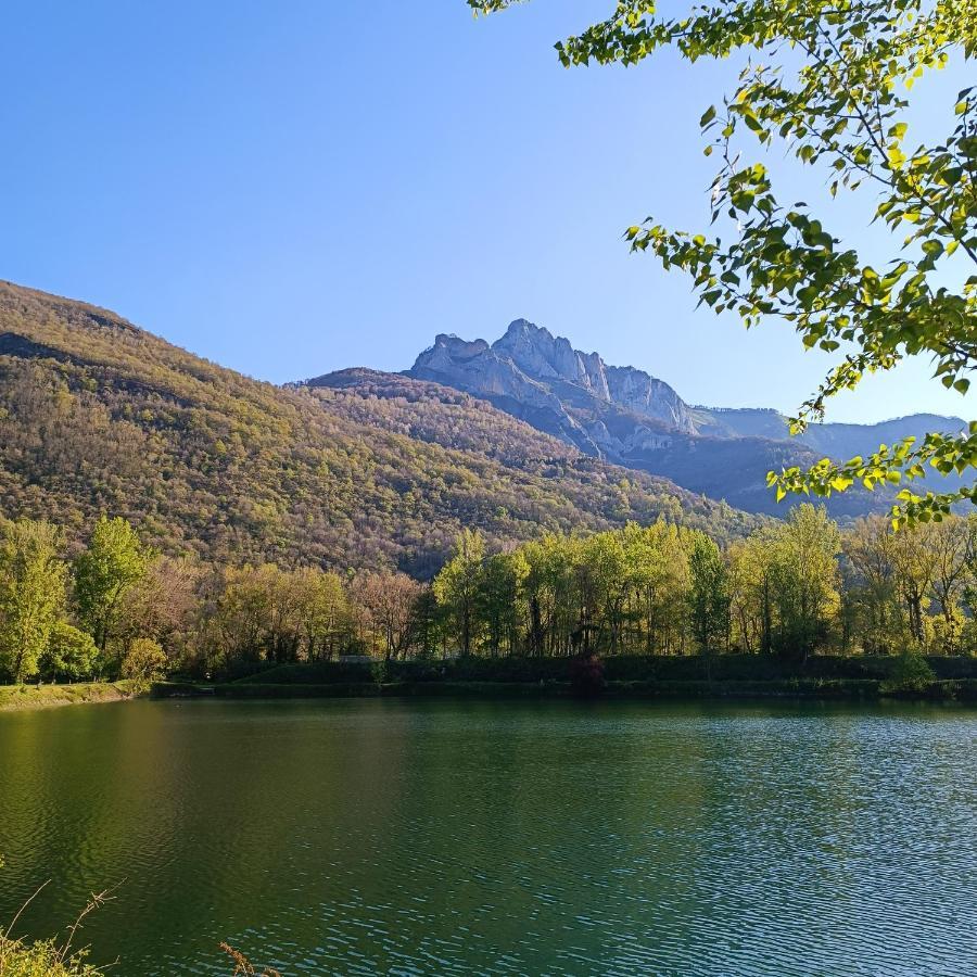
[[[525,317],[691,403],[790,410],[828,360],[696,312],[621,240],[652,213],[706,225],[698,118],[735,66],[561,68],[553,42],[612,5],[14,0],[0,278],[276,382],[404,369],[437,332]],[[829,226],[857,230],[845,206]],[[969,416],[929,375],[875,378],[829,419]]]

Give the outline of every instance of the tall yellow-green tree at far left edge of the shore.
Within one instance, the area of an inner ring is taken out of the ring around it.
[[[0,670],[37,674],[65,601],[61,533],[47,522],[0,522]]]

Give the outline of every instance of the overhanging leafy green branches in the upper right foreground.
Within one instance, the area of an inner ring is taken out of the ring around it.
[[[468,0],[477,13],[512,2]],[[823,417],[827,398],[906,356],[931,358],[935,378],[965,393],[977,365],[977,90],[956,96],[954,123],[928,144],[909,142],[908,119],[910,89],[924,73],[977,54],[974,0],[716,0],[674,17],[656,7],[619,0],[606,21],[557,45],[560,61],[633,65],[662,49],[689,62],[750,56],[736,90],[700,119],[705,152],[721,161],[710,195],[714,232],[649,218],[627,229],[631,246],[686,271],[718,314],[748,327],[781,320],[805,347],[837,355],[791,419],[795,432]],[[874,192],[871,219],[893,236],[889,261],[870,263],[846,245],[827,210],[782,203],[767,167],[751,158],[776,158],[778,143],[819,168],[832,196]],[[855,482],[918,479],[927,468],[973,473],[977,422],[769,480],[778,497],[826,496]],[[938,519],[961,499],[977,502],[977,485],[925,494],[908,486],[893,519]]]

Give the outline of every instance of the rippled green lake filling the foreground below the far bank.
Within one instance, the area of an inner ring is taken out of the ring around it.
[[[116,975],[977,974],[977,712],[138,701],[0,714],[0,918]]]

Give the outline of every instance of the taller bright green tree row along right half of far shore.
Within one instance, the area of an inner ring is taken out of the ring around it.
[[[465,532],[433,591],[462,654],[974,654],[977,520],[802,505],[724,548],[659,521],[491,555]]]

